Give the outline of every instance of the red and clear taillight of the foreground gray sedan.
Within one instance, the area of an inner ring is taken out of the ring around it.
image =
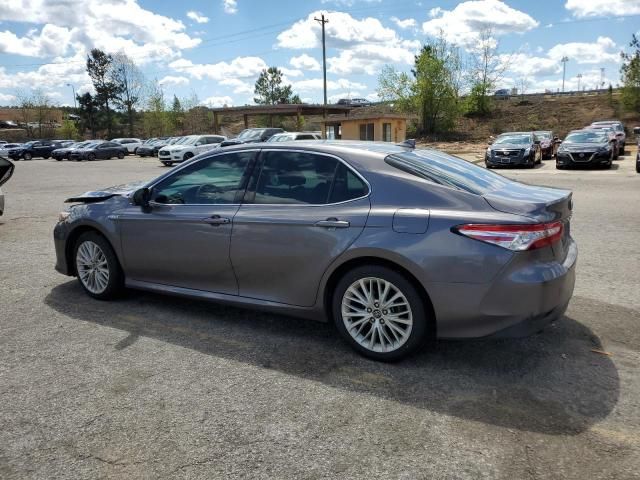
[[[562,223],[537,223],[533,225],[468,224],[453,230],[465,237],[492,243],[516,252],[534,250],[551,245],[562,238]]]

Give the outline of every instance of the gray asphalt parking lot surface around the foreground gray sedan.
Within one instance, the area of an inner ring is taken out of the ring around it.
[[[53,270],[63,200],[166,169],[19,162],[0,217],[0,478],[640,478],[632,158],[501,170],[574,191],[566,316],[396,364],[330,325],[142,292],[91,300]]]

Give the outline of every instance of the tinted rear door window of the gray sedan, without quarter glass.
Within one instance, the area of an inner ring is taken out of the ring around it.
[[[306,152],[263,153],[254,203],[321,205],[328,202],[338,161]]]

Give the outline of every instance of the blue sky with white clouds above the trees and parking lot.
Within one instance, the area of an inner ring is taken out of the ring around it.
[[[619,52],[640,28],[640,0],[0,0],[0,104],[41,88],[58,104],[91,90],[92,47],[124,51],[167,98],[195,93],[208,105],[252,103],[260,70],[278,66],[295,92],[322,101],[325,12],[329,97],[374,100],[385,64],[408,71],[439,32],[468,55],[492,29],[510,67],[498,87],[557,90],[619,83]],[[578,79],[578,74],[581,78]]]

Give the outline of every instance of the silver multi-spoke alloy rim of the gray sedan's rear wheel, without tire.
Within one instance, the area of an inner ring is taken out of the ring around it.
[[[376,277],[361,278],[345,291],[342,321],[351,337],[372,352],[393,352],[402,347],[413,329],[407,297],[393,283]]]

